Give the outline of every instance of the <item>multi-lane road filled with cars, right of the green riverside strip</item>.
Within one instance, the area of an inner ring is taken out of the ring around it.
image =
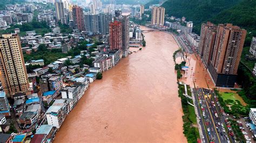
[[[221,115],[220,105],[214,101],[214,93],[209,89],[193,89],[205,142],[234,142],[228,135],[225,117]],[[218,107],[217,107],[218,106]]]

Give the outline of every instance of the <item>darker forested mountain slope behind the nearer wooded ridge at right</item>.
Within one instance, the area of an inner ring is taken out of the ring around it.
[[[163,3],[169,16],[186,17],[195,25],[218,15],[242,0],[169,0]]]

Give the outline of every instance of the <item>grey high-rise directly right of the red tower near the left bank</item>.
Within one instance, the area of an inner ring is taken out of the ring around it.
[[[130,16],[123,15],[115,18],[118,22],[122,23],[122,51],[123,57],[129,55],[129,41],[130,41]]]

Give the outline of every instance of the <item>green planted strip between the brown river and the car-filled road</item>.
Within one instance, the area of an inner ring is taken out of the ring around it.
[[[181,98],[181,105],[183,109],[183,133],[187,138],[187,142],[197,142],[200,138],[199,130],[197,127],[197,117],[194,111],[194,107],[187,104],[187,97],[185,93],[184,85],[179,84],[179,97]]]

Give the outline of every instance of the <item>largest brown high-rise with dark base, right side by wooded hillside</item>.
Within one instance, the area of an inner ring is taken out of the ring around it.
[[[207,34],[214,39],[214,31],[205,32],[202,37],[205,38],[204,54],[207,52]],[[242,48],[244,46],[246,30],[232,24],[219,24],[215,36],[214,48],[211,56],[211,62],[208,64],[208,70],[213,81],[218,87],[234,87],[237,78],[237,70],[240,62]],[[202,39],[204,40],[204,39]],[[212,44],[211,44],[212,45]],[[211,54],[211,53],[210,53]]]

